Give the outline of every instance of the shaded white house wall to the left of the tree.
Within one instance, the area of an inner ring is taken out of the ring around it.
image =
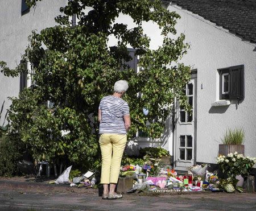
[[[32,30],[55,26],[55,16],[60,7],[68,0],[38,2],[30,12],[21,15],[21,0],[0,1],[0,61],[6,61],[8,67],[15,68],[28,45],[28,35]],[[18,96],[19,77],[8,78],[0,73],[0,125],[6,125],[6,109],[10,106],[7,97]]]

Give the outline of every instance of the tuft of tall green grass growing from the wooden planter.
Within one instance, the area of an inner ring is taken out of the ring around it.
[[[223,144],[233,144],[233,145],[241,145],[244,142],[245,131],[240,129],[228,129],[224,135],[224,138],[221,139]]]

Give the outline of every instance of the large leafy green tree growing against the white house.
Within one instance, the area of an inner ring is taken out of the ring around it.
[[[27,1],[29,6],[36,2]],[[85,14],[85,7],[92,10]],[[29,37],[23,59],[32,65],[34,85],[11,98],[9,109],[10,134],[18,134],[35,159],[46,156],[50,162],[62,159],[86,168],[98,164],[98,105],[120,79],[129,82],[124,97],[132,119],[129,137],[137,130],[160,137],[175,97],[189,110],[183,89],[190,68],[179,63],[188,44],[183,34],[177,39],[168,36],[176,34],[178,14],[164,9],[159,0],[73,0],[60,11],[63,14],[55,19],[58,26],[39,34],[33,31]],[[137,26],[129,30],[114,23],[120,13],[131,16]],[[79,20],[76,26],[70,21],[73,14]],[[142,22],[150,20],[164,36],[156,50],[149,49],[150,39],[143,33]],[[119,40],[117,46],[108,47],[109,35]],[[127,44],[136,49],[143,71],[135,73],[126,65],[131,59]],[[3,61],[0,67],[12,77],[26,71],[22,64],[9,69]],[[53,102],[53,107],[47,102]],[[149,110],[147,116],[142,113],[144,107]],[[63,136],[61,130],[70,133]]]

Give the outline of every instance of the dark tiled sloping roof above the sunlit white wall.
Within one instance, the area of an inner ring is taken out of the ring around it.
[[[256,43],[256,0],[174,0],[183,9],[198,14]]]

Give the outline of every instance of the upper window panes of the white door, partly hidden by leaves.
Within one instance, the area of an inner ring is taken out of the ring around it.
[[[180,106],[180,122],[193,121],[193,84],[187,84],[184,89],[185,94],[188,96],[188,104],[192,106],[192,113],[185,111],[183,106]]]

